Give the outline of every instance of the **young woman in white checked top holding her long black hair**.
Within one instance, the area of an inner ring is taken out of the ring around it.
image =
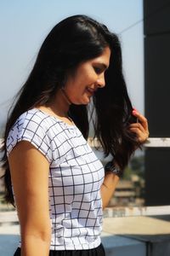
[[[87,143],[89,102],[95,137],[113,156],[105,170]],[[54,26],[4,134],[6,200],[20,219],[14,255],[105,255],[102,208],[148,134],[127,95],[116,35],[85,15]]]

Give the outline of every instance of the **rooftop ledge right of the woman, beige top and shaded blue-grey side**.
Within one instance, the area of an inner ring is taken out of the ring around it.
[[[104,212],[106,255],[170,255],[170,206],[113,207]]]

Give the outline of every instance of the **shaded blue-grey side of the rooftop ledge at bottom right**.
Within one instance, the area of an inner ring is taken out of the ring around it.
[[[170,235],[154,236],[125,234],[104,236],[106,256],[169,256]]]

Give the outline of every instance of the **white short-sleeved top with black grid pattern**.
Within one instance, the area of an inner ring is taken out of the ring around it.
[[[8,134],[8,154],[29,141],[49,163],[51,250],[98,247],[102,224],[100,186],[104,167],[76,125],[37,108],[23,113]]]

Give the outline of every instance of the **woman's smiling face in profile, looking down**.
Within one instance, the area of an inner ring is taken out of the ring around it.
[[[74,104],[88,104],[94,91],[105,86],[105,70],[109,67],[111,49],[106,47],[98,57],[82,62],[68,76],[65,93]]]

